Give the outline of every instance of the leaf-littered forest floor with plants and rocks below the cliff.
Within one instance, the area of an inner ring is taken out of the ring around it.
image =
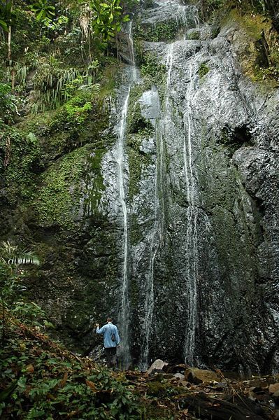
[[[230,379],[162,360],[147,372],[115,372],[12,317],[2,341],[3,420],[279,419],[279,375]]]

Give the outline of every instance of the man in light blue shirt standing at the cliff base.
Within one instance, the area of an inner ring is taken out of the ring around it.
[[[106,363],[108,367],[116,366],[116,347],[120,343],[117,326],[113,325],[112,318],[107,318],[107,323],[99,328],[96,323],[96,333],[103,335],[103,346],[105,348]]]

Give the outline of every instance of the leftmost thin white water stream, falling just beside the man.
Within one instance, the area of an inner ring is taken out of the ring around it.
[[[134,59],[134,43],[131,33],[132,22],[128,23],[128,37],[129,37],[129,52],[130,52],[130,80],[127,89],[126,97],[124,98],[124,104],[122,108],[119,129],[118,129],[118,141],[117,150],[115,153],[115,161],[118,168],[118,191],[120,205],[122,209],[122,223],[124,228],[124,241],[123,241],[123,266],[122,266],[122,286],[121,286],[121,310],[120,310],[120,335],[122,341],[122,364],[124,368],[127,368],[131,362],[130,349],[129,349],[129,276],[128,276],[128,253],[129,253],[129,242],[128,242],[128,211],[127,204],[125,201],[125,185],[124,185],[124,140],[126,135],[127,127],[127,113],[129,106],[129,97],[131,87],[136,83],[137,71]]]

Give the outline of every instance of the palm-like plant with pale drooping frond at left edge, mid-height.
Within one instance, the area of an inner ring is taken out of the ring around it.
[[[36,255],[30,251],[19,251],[17,246],[3,241],[0,249],[0,296],[2,312],[2,342],[6,335],[6,314],[5,309],[8,300],[12,300],[16,286],[18,286],[18,276],[15,269],[20,265],[34,264],[39,265]]]

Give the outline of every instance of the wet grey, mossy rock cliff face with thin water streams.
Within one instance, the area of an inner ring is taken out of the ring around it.
[[[54,164],[71,204],[57,231],[57,215],[38,217],[44,173],[24,216],[44,256],[33,290],[80,348],[109,313],[126,363],[278,369],[279,92],[251,80],[271,29],[255,19],[232,10],[201,25],[176,0],[141,10],[134,39],[122,38],[110,118],[73,157],[75,181],[71,155]]]

